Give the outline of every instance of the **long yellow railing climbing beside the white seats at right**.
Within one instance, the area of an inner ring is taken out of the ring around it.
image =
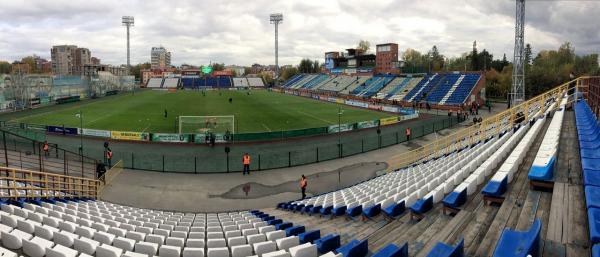
[[[545,110],[547,101],[556,100],[563,93],[577,88],[577,85],[582,84],[582,82],[590,78],[597,77],[584,76],[565,82],[517,106],[488,117],[479,124],[474,124],[458,130],[412,151],[393,156],[388,160],[388,170],[397,170],[418,162],[419,160],[427,160],[428,157],[439,157],[459,149],[461,145],[466,146],[467,144],[473,144],[484,140],[486,136],[489,136],[490,134],[500,134],[513,127],[517,113],[523,113],[523,120],[527,121],[529,119],[528,116],[531,115],[531,113],[536,113],[533,110]]]

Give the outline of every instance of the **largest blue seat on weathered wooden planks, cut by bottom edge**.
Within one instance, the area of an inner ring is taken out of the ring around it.
[[[535,219],[528,231],[505,228],[496,244],[494,257],[526,257],[540,255],[540,232],[542,222]]]

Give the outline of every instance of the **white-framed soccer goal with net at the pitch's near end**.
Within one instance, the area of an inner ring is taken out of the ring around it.
[[[235,134],[235,117],[226,116],[179,116],[179,134]]]

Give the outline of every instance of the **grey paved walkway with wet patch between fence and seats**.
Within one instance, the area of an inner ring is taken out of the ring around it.
[[[494,108],[490,114],[503,110]],[[101,199],[149,209],[183,212],[219,212],[273,207],[300,197],[302,174],[308,193],[319,194],[367,180],[385,172],[392,156],[415,149],[468,124],[439,131],[410,142],[310,165],[284,169],[219,174],[174,174],[138,170],[123,172],[104,190]],[[246,194],[247,191],[247,194]]]

